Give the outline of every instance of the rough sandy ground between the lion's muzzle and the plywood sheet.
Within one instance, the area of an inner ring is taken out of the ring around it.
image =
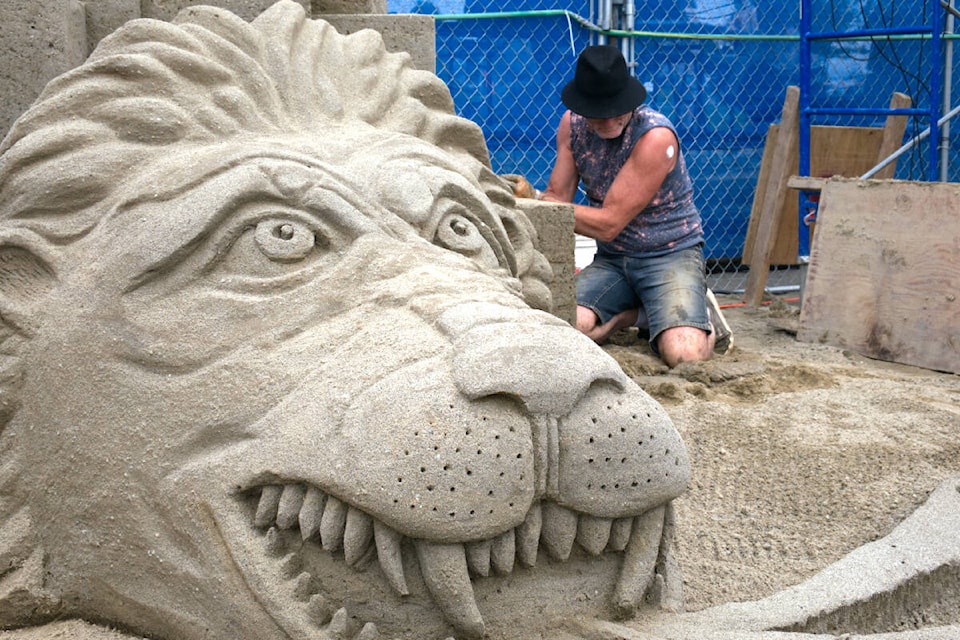
[[[605,347],[691,454],[677,502],[688,610],[810,577],[960,473],[960,376],[798,342],[789,298],[759,309],[718,298],[735,336],[724,356],[668,371],[629,332]]]

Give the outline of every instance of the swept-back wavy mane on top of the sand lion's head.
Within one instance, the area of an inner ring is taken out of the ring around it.
[[[340,35],[284,0],[252,23],[197,6],[105,38],[0,144],[0,219],[69,241],[136,167],[172,147],[350,123],[430,142],[501,186],[482,132],[454,115],[442,81],[388,53],[375,31]]]

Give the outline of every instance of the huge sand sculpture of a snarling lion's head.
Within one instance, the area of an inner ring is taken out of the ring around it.
[[[667,588],[679,435],[379,35],[133,21],[0,151],[0,628],[477,638]]]

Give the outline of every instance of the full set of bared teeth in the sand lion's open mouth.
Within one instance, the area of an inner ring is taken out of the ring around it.
[[[336,558],[356,571],[365,570],[376,558],[386,582],[401,598],[410,594],[409,572],[419,569],[427,591],[458,637],[479,638],[485,625],[471,576],[508,576],[517,565],[531,568],[541,548],[557,561],[570,557],[574,543],[591,556],[617,553],[623,561],[611,605],[626,615],[641,604],[654,578],[664,534],[663,507],[637,517],[609,519],[544,502],[535,504],[522,524],[493,539],[447,544],[404,538],[315,487],[268,485],[252,490],[248,497],[251,511],[256,504],[253,524],[264,532],[268,555],[281,562],[286,590],[320,626],[342,626],[342,606],[349,598],[332,601],[337,587],[314,575],[303,558],[308,548],[328,562]],[[404,548],[411,547],[415,553],[405,555]]]

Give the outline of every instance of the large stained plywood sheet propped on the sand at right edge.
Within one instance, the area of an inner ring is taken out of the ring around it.
[[[960,373],[960,184],[833,178],[797,339]]]

